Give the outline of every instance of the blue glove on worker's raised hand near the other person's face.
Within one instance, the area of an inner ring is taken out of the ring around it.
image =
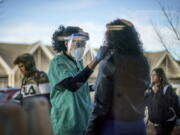
[[[96,61],[100,62],[101,60],[103,60],[104,57],[106,56],[107,52],[108,52],[108,47],[107,46],[101,46],[98,50],[96,57],[95,57]]]

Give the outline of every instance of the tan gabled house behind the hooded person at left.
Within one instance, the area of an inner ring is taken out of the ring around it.
[[[52,46],[43,45],[41,42],[33,44],[0,43],[0,88],[21,86],[23,76],[13,62],[18,55],[23,53],[32,54],[37,68],[45,72],[48,72],[50,61],[56,55]],[[93,58],[91,53],[87,53],[85,63],[91,58]]]

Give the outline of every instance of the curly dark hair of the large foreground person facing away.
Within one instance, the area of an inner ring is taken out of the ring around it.
[[[142,43],[133,24],[124,19],[116,19],[106,26],[120,25],[122,30],[106,31],[107,45],[110,49],[115,50],[119,54],[143,54]]]

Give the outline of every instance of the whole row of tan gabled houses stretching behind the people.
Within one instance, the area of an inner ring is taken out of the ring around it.
[[[37,68],[45,72],[48,72],[50,61],[56,55],[52,46],[43,45],[41,42],[33,44],[0,43],[0,88],[21,86],[22,74],[18,67],[14,66],[13,61],[23,53],[31,53],[35,58]],[[88,50],[84,57],[84,65],[90,63],[96,53],[97,50]],[[145,52],[144,55],[147,57],[151,69],[162,67],[169,81],[180,88],[180,61],[175,60],[166,51]],[[90,83],[94,83],[97,74],[98,67],[91,75]]]

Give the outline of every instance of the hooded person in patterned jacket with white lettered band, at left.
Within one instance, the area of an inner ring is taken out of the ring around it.
[[[14,60],[14,64],[19,67],[24,76],[20,93],[15,99],[23,103],[24,100],[37,96],[45,97],[49,102],[51,87],[48,76],[45,72],[36,68],[33,55],[29,53],[22,54]]]

